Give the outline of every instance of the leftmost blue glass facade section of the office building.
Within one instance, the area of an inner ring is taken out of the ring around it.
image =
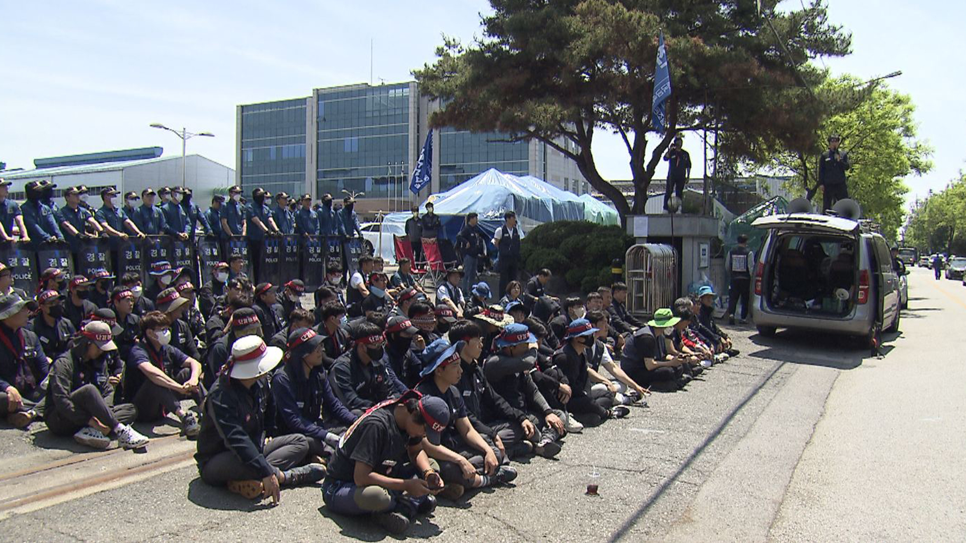
[[[239,177],[246,194],[262,186],[272,194],[305,192],[306,99],[239,107]]]

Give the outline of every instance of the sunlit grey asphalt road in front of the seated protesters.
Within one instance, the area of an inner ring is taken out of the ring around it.
[[[932,281],[924,271],[911,276],[902,333],[887,337],[882,358],[835,337],[780,332],[765,339],[751,326],[725,327],[741,356],[684,391],[655,393],[650,407],[634,408],[625,419],[568,436],[558,459],[519,465],[510,486],[457,503],[440,500],[408,535],[962,540],[966,434],[957,415],[966,376],[955,328],[966,314],[966,289]],[[43,429],[2,429],[0,477],[84,454],[76,448]],[[149,447],[147,455],[153,453],[160,454]],[[590,482],[599,484],[599,497],[584,494]],[[190,466],[89,490],[12,515],[0,522],[0,540],[392,538],[367,519],[329,514],[318,487],[283,490],[281,503],[270,507],[208,487]]]

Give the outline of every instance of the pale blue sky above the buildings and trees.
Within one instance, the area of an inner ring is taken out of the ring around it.
[[[799,0],[786,0],[797,5]],[[966,4],[833,0],[830,18],[853,33],[852,55],[826,59],[836,73],[889,81],[912,95],[920,135],[935,147],[935,168],[910,178],[910,199],[957,175],[966,158],[959,132],[966,75],[950,61],[966,50],[959,25]],[[212,131],[189,153],[234,167],[235,106],[307,96],[312,88],[403,81],[432,62],[441,34],[467,42],[480,34],[485,0],[447,2],[14,2],[0,0],[0,160],[32,167],[52,157],[158,145],[180,153],[173,134]],[[688,143],[697,162],[700,144]],[[595,155],[605,178],[630,176],[619,138]],[[663,172],[659,171],[659,175]]]

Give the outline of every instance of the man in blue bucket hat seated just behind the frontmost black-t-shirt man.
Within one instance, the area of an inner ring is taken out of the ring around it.
[[[423,443],[430,458],[440,462],[440,475],[446,494],[462,496],[465,488],[479,488],[510,482],[517,471],[509,467],[509,459],[497,444],[483,437],[474,427],[475,416],[467,411],[463,394],[456,387],[463,375],[459,350],[463,345],[449,345],[440,339],[427,347],[428,365],[423,368],[423,380],[415,390],[423,397],[436,396],[446,402],[449,424],[442,430],[439,445]],[[472,418],[472,419],[471,419]]]

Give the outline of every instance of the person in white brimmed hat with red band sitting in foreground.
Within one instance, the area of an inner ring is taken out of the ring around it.
[[[266,440],[270,416],[266,376],[281,359],[281,349],[267,347],[255,335],[232,345],[230,361],[202,408],[205,415],[194,460],[206,483],[226,486],[249,500],[261,496],[278,503],[279,487],[311,484],[326,475],[320,464],[302,466],[309,456],[305,436]]]

